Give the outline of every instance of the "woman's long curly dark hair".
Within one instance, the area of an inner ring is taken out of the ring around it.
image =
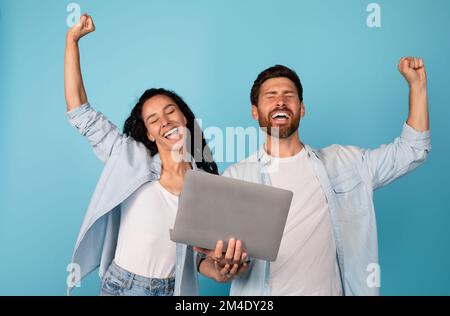
[[[123,133],[127,136],[132,137],[134,140],[143,143],[145,147],[150,150],[151,156],[154,156],[158,153],[158,147],[156,146],[156,143],[148,139],[147,128],[145,127],[144,120],[142,119],[142,108],[144,107],[144,103],[150,98],[157,95],[165,95],[171,98],[186,117],[186,128],[189,130],[191,136],[191,146],[188,150],[190,151],[189,154],[194,157],[197,167],[206,172],[218,174],[217,165],[212,158],[212,154],[208,145],[206,144],[203,132],[195,121],[194,113],[191,111],[186,102],[184,102],[184,100],[173,91],[161,88],[149,89],[145,91],[144,94],[139,98],[139,102],[131,111],[130,116],[125,121]],[[202,136],[201,146],[200,142],[195,141],[197,135]]]

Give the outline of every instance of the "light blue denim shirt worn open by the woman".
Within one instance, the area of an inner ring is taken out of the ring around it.
[[[144,183],[159,180],[161,160],[159,155],[151,157],[143,144],[122,135],[89,104],[67,112],[66,116],[105,164],[72,257],[72,262],[81,268],[82,278],[99,266],[102,278],[114,259],[120,205]],[[195,163],[192,166],[196,169]],[[196,257],[192,247],[177,244],[174,295],[198,295]],[[71,290],[68,288],[68,294]]]

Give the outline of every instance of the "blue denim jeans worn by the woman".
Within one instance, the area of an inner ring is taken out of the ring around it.
[[[172,296],[174,288],[175,278],[146,278],[113,262],[103,277],[100,296]]]

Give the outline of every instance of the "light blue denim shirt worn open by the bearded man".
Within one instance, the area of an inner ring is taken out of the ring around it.
[[[367,282],[378,265],[373,191],[426,160],[430,132],[418,132],[405,124],[399,138],[375,150],[340,145],[305,149],[328,201],[344,295],[379,295],[379,288]],[[261,148],[223,175],[270,185],[268,162]],[[269,262],[254,260],[245,275],[233,280],[230,294],[270,295],[269,274]]]

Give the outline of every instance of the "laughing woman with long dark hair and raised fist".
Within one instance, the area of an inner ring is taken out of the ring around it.
[[[123,135],[90,106],[78,41],[94,30],[92,18],[85,14],[66,38],[66,115],[105,163],[73,263],[79,265],[81,278],[100,266],[101,295],[197,295],[200,260],[192,247],[170,241],[169,228],[187,170],[217,174],[217,166],[203,134],[195,131],[194,114],[174,92],[145,91],[125,122]],[[199,134],[201,148],[195,148]],[[201,158],[194,161],[191,153]],[[240,242],[229,244],[227,254],[244,262]],[[201,264],[207,276],[224,282],[238,272],[239,264],[225,261],[221,250],[215,260],[208,257]]]

